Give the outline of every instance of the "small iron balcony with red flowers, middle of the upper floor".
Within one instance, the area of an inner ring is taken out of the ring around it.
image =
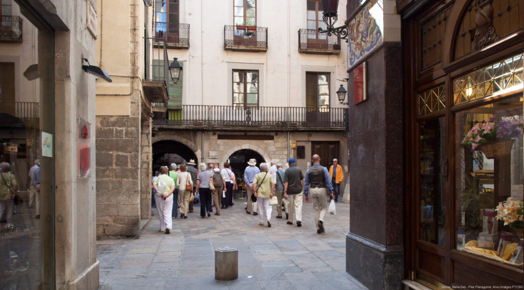
[[[233,51],[267,51],[267,27],[224,26],[224,49]]]

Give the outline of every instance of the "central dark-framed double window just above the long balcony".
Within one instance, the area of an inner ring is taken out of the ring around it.
[[[233,106],[258,106],[258,71],[233,70]]]

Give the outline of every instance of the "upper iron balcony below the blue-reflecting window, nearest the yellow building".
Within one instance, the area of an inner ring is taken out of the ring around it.
[[[165,40],[167,48],[189,49],[189,24],[154,22],[153,28],[155,38]]]

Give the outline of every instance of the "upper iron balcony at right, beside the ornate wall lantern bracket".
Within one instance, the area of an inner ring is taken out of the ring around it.
[[[298,52],[309,54],[339,54],[340,38],[314,29],[298,31]]]

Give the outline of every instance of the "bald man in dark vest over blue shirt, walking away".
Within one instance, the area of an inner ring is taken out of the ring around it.
[[[320,156],[314,154],[311,158],[313,166],[305,172],[304,195],[305,202],[309,201],[308,192],[313,200],[313,213],[315,215],[316,233],[324,232],[324,217],[328,211],[326,187],[333,198],[333,186],[328,169],[320,165]]]

